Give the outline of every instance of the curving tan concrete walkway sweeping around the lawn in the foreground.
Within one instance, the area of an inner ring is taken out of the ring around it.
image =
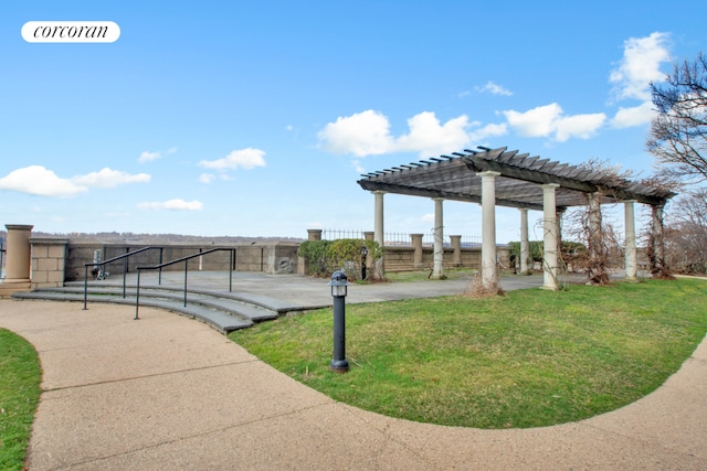
[[[478,430],[337,403],[170,312],[146,308],[134,321],[130,307],[81,308],[0,301],[0,327],[30,341],[44,371],[32,470],[707,469],[707,342],[614,413]]]

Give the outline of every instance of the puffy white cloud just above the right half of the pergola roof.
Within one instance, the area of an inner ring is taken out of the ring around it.
[[[564,116],[557,103],[528,111],[502,111],[508,125],[526,137],[550,137],[563,142],[570,138],[588,139],[606,120],[603,113]]]

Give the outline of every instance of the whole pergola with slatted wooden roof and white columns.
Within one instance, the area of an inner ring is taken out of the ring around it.
[[[383,194],[395,193],[431,197],[435,201],[435,249],[433,275],[442,274],[442,202],[455,200],[482,204],[482,280],[495,286],[496,228],[495,207],[517,207],[521,212],[521,270],[528,259],[527,211],[544,212],[545,287],[557,289],[558,216],[570,206],[623,202],[625,205],[626,278],[635,278],[635,202],[654,210],[659,221],[669,191],[631,182],[610,173],[592,171],[508,151],[507,148],[465,149],[452,156],[432,157],[367,173],[358,184],[376,195],[374,237],[383,244]],[[525,249],[525,254],[524,254]]]

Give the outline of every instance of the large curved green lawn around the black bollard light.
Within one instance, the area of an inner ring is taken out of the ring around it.
[[[351,370],[328,368],[331,310],[230,338],[328,396],[450,426],[541,427],[653,392],[707,332],[704,280],[570,286],[347,307]]]

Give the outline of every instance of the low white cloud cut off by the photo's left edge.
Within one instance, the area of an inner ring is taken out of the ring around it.
[[[40,196],[72,196],[83,193],[87,189],[71,180],[56,176],[53,171],[42,165],[30,165],[13,170],[7,176],[0,179],[0,190],[11,190]]]

